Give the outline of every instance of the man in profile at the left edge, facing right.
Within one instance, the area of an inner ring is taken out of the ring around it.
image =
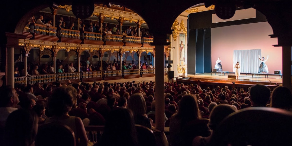
[[[3,129],[8,115],[17,110],[15,106],[19,103],[19,99],[16,90],[10,86],[2,86],[0,95],[0,129]]]

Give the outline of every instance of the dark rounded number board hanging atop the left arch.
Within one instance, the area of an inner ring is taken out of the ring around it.
[[[92,0],[73,1],[72,12],[79,19],[86,19],[93,14],[94,3]]]

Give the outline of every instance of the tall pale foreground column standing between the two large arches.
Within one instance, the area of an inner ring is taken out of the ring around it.
[[[164,131],[164,46],[155,45],[155,124],[159,131]]]

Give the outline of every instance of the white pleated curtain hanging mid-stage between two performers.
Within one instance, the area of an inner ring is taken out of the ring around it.
[[[233,50],[233,72],[235,64],[239,61],[240,72],[257,73],[260,66],[258,55],[261,55],[261,49],[254,50]]]

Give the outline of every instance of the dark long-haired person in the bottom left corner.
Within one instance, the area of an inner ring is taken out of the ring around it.
[[[38,129],[38,117],[32,110],[18,109],[9,114],[3,146],[32,146]]]

